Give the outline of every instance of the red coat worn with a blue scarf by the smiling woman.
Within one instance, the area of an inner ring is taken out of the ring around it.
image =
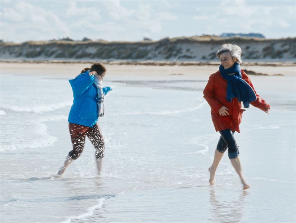
[[[269,105],[256,93],[248,75],[241,70],[241,78],[244,79],[254,90],[257,100],[250,104],[265,111]],[[231,129],[240,132],[239,125],[245,109],[241,109],[241,102],[233,98],[231,102],[226,100],[227,81],[222,77],[219,71],[213,73],[204,90],[204,98],[211,107],[211,116],[216,131]],[[228,108],[229,115],[220,116],[218,110],[225,106]]]

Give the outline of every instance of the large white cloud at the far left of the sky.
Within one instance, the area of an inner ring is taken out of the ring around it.
[[[57,15],[28,2],[12,2],[10,7],[2,8],[2,13],[0,19],[3,39],[20,42],[70,33],[66,24]]]

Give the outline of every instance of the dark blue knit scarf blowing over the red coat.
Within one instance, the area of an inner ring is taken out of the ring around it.
[[[226,100],[231,102],[232,98],[237,97],[238,101],[244,103],[244,107],[248,108],[250,102],[255,101],[257,96],[252,87],[241,78],[241,67],[239,63],[234,63],[233,67],[224,69],[222,65],[219,67],[222,77],[227,80]],[[228,75],[235,73],[234,75]]]

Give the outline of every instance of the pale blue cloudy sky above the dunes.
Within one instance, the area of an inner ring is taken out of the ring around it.
[[[296,0],[0,0],[5,42],[141,41],[222,33],[295,37]]]

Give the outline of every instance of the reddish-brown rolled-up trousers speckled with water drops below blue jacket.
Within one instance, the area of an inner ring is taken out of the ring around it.
[[[72,141],[73,150],[69,152],[69,156],[76,160],[83,151],[85,135],[89,138],[95,147],[95,157],[97,159],[104,157],[104,139],[100,132],[98,124],[93,127],[69,123],[69,131]]]

